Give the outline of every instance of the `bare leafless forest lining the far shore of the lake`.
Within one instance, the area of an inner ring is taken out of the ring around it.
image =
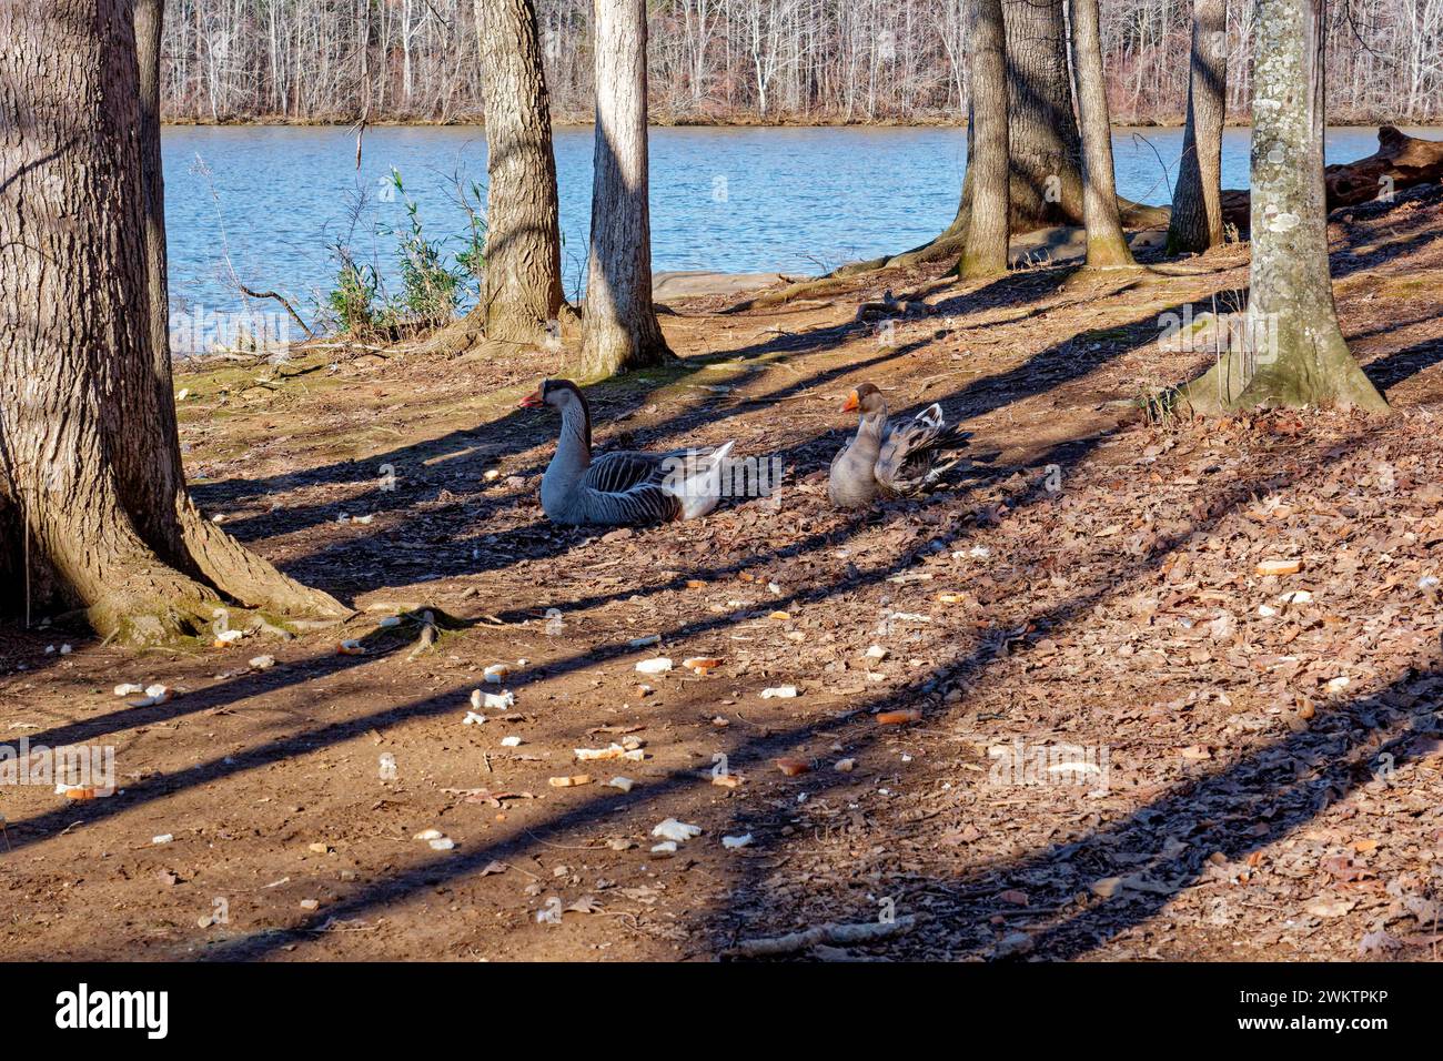
[[[592,110],[590,0],[538,0],[557,120]],[[473,0],[170,0],[165,108],[227,121],[482,117]],[[654,0],[657,121],[951,121],[962,0]],[[1183,117],[1190,4],[1102,0],[1118,123]],[[1253,4],[1228,20],[1228,113],[1250,104]],[[1332,121],[1443,117],[1443,0],[1329,6]]]

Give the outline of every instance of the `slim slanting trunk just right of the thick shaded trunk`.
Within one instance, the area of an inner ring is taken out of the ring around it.
[[[1076,77],[1078,118],[1082,128],[1082,215],[1087,222],[1088,268],[1136,266],[1123,235],[1113,173],[1113,124],[1107,113],[1102,75],[1102,30],[1097,0],[1071,0],[1072,69]]]

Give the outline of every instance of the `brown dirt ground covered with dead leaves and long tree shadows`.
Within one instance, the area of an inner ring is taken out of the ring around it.
[[[120,787],[0,788],[6,956],[711,960],[838,924],[882,938],[798,953],[1437,957],[1443,189],[1330,232],[1387,420],[1143,416],[1212,358],[1160,342],[1167,315],[1186,336],[1234,306],[1245,247],[677,303],[678,367],[590,388],[597,445],[736,439],[788,478],[652,530],[541,514],[557,423],[517,400],[564,349],[182,371],[196,499],[358,615],[144,655],[0,629],[0,742],[113,746]],[[857,320],[885,290],[911,310]],[[941,401],[975,460],[922,501],[830,508],[861,381],[893,411]],[[421,606],[456,622],[414,654],[382,621]],[[658,655],[675,668],[636,673]],[[515,704],[466,725],[478,689]],[[574,758],[613,742],[645,758]],[[665,818],[701,831],[654,853]]]

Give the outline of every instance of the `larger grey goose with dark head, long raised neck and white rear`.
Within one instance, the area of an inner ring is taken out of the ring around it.
[[[667,453],[613,450],[592,459],[592,410],[570,380],[545,380],[521,400],[561,413],[556,455],[541,476],[541,508],[561,524],[629,527],[697,520],[722,498],[732,443]]]

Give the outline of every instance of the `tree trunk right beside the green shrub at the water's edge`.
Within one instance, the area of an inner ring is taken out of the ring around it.
[[[476,312],[488,339],[538,342],[564,297],[551,111],[532,0],[476,0],[476,30],[491,179]]]

